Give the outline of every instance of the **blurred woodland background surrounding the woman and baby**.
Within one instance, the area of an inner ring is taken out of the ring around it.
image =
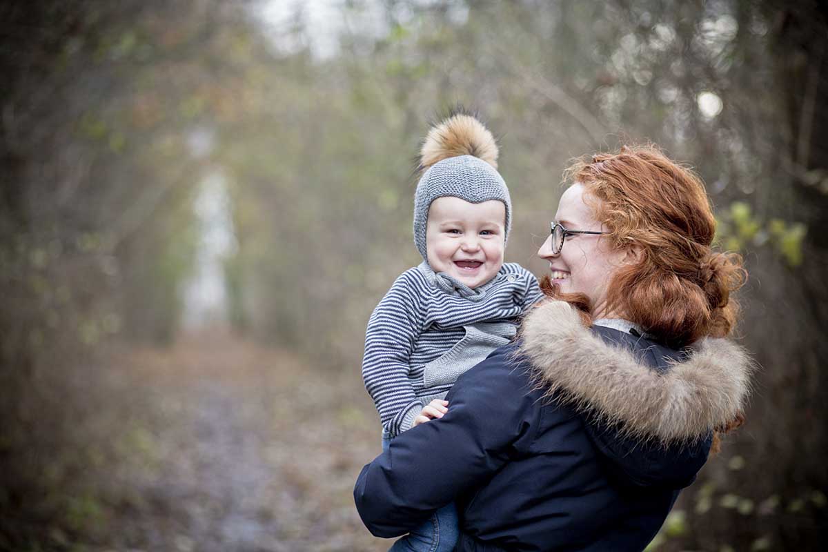
[[[538,275],[571,156],[700,173],[762,370],[650,550],[826,539],[824,3],[12,1],[0,79],[0,550],[387,550],[364,327],[455,103]]]

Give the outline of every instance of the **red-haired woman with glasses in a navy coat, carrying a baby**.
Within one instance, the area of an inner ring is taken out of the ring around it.
[[[532,310],[445,415],[363,468],[354,498],[374,535],[456,500],[457,550],[643,550],[740,419],[749,359],[710,338],[733,329],[744,271],[710,248],[703,185],[650,146],[590,161],[567,171],[538,252],[545,290],[568,302]]]

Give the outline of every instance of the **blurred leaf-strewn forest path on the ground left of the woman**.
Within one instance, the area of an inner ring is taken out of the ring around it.
[[[118,383],[140,401],[137,462],[112,544],[145,550],[388,550],[354,509],[378,423],[359,367],[314,371],[230,334],[122,350]],[[132,406],[135,416],[136,406]],[[131,433],[129,433],[131,432]],[[118,494],[109,492],[110,497]]]

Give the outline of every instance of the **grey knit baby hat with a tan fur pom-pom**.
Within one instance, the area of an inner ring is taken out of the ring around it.
[[[460,113],[431,127],[420,151],[420,167],[426,172],[414,194],[414,243],[426,262],[428,209],[437,198],[450,196],[469,203],[503,201],[505,242],[512,226],[512,200],[497,170],[497,142],[483,123]]]

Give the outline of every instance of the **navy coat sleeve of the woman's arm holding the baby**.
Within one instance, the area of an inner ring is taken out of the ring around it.
[[[500,348],[465,372],[449,411],[392,439],[354,487],[359,516],[376,536],[403,535],[461,492],[479,486],[532,439],[537,410]]]

